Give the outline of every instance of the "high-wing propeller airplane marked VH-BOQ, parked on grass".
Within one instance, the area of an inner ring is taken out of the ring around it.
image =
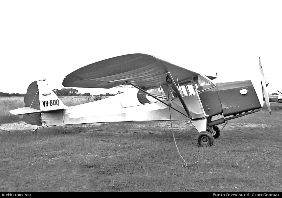
[[[89,64],[65,77],[65,87],[112,88],[132,85],[135,92],[103,100],[65,106],[45,81],[27,89],[25,106],[11,110],[27,124],[54,126],[124,121],[188,120],[199,134],[199,146],[211,146],[216,126],[258,112],[263,95],[270,113],[266,84],[259,59],[258,82],[213,83],[205,76],[147,54],[127,54]],[[222,118],[219,118],[221,115]]]

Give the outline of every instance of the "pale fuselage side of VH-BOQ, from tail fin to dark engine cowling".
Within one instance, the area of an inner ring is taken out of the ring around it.
[[[170,120],[169,107],[159,101],[141,104],[136,93],[118,94],[106,99],[66,107],[64,110],[41,113],[42,126],[63,125],[63,124],[83,124],[101,122],[124,122],[124,121],[155,121]],[[196,96],[184,97],[192,104],[191,111],[194,117],[202,117],[202,110]],[[168,103],[168,100],[165,100]],[[185,114],[178,98],[171,99],[171,106]],[[188,103],[188,104],[189,104]],[[186,120],[188,117],[171,109],[172,120]]]

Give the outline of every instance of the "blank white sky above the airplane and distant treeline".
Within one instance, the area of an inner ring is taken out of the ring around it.
[[[282,1],[0,1],[0,92],[51,89],[88,64],[144,53],[215,76],[259,75],[282,90]],[[116,94],[118,89],[76,88]]]

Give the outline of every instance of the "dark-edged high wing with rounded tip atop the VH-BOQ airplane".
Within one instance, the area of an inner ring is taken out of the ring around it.
[[[65,77],[65,87],[112,88],[129,81],[140,88],[166,84],[166,71],[179,83],[198,73],[147,54],[127,54],[89,64]],[[215,77],[210,77],[215,78]]]

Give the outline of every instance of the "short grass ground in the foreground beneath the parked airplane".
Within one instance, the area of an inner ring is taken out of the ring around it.
[[[3,112],[2,102],[0,103]],[[14,104],[8,108],[18,108]],[[0,126],[1,192],[281,192],[282,104],[228,122],[212,147],[193,125],[99,123],[30,131]],[[10,110],[10,109],[8,109]],[[7,110],[5,110],[7,111]],[[20,125],[22,126],[22,125]],[[222,125],[219,125],[222,128]]]

